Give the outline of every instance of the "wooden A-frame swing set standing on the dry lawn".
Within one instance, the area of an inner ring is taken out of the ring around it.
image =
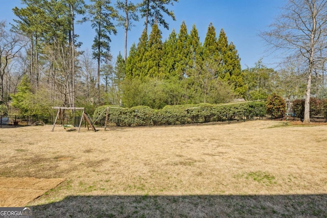
[[[91,122],[91,118],[89,117],[89,115],[87,113],[85,113],[85,108],[82,108],[82,107],[52,107],[52,109],[57,109],[58,112],[57,112],[57,116],[56,116],[56,119],[53,123],[53,126],[52,126],[52,130],[51,132],[53,132],[53,130],[55,129],[55,126],[56,126],[56,123],[57,123],[57,120],[60,119],[61,120],[61,124],[62,124],[62,127],[64,129],[69,129],[69,128],[73,128],[75,127],[74,125],[64,125],[64,114],[65,114],[65,110],[72,110],[72,111],[75,111],[75,110],[82,110],[82,116],[81,116],[81,120],[79,122],[79,126],[78,126],[78,132],[80,132],[81,130],[81,126],[82,126],[82,122],[83,120],[86,122],[87,124],[87,130],[89,129],[89,127],[91,127],[91,129],[96,132],[96,128],[94,126],[94,124],[92,124]]]

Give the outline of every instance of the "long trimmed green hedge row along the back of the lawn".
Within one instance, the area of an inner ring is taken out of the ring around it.
[[[108,111],[108,123],[116,126],[160,126],[160,125],[183,125],[208,122],[225,122],[232,120],[250,119],[253,116],[264,116],[266,104],[263,102],[251,102],[231,105],[175,105],[166,106],[163,109],[151,109],[148,106],[122,108],[118,106],[104,105],[94,112],[94,120],[103,123]],[[100,123],[101,123],[100,122]]]

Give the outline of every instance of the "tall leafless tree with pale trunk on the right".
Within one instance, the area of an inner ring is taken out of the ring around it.
[[[310,95],[313,73],[325,61],[327,46],[327,1],[289,0],[279,17],[262,32],[261,36],[285,56],[300,58],[307,88],[305,116],[303,122],[310,122]],[[323,71],[323,70],[322,70]],[[321,72],[321,70],[320,70]]]

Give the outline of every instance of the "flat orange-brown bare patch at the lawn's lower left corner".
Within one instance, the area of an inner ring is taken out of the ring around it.
[[[23,207],[64,179],[6,178],[0,177],[0,206]]]

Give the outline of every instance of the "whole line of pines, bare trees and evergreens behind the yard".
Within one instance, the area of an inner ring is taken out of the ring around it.
[[[302,1],[309,0],[295,2]],[[14,113],[16,108],[44,115],[55,105],[86,107],[90,112],[101,105],[160,109],[266,99],[271,93],[303,98],[307,88],[303,78],[308,74],[300,59],[288,56],[278,70],[265,66],[262,59],[242,69],[236,45],[223,29],[217,34],[212,23],[203,43],[196,26],[189,32],[184,21],[179,32],[172,30],[162,39],[160,28],[169,29],[165,17],[175,20],[170,8],[177,2],[22,0],[26,7],[13,9],[14,23],[0,25],[0,112]],[[140,18],[145,29],[128,51],[128,33]],[[80,49],[75,25],[81,22],[89,22],[95,31],[91,50]],[[124,53],[112,57],[110,36],[119,27],[125,32]],[[262,37],[272,42],[271,35],[266,32]],[[315,51],[325,55],[323,49]],[[325,62],[319,63],[310,73],[314,87],[310,95],[321,98],[327,94]]]

